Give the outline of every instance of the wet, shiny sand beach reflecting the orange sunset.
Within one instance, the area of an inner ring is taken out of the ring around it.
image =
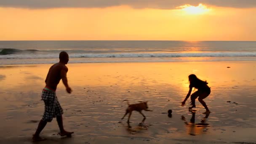
[[[51,64],[0,66],[0,143],[31,144],[44,105],[40,94]],[[64,109],[64,128],[72,138],[60,138],[56,119],[48,123],[38,144],[256,144],[256,62],[166,62],[68,64],[73,93],[60,82],[57,96]],[[227,68],[230,67],[230,68]],[[196,74],[207,80],[211,94],[205,99],[211,110],[204,115],[196,101],[196,112],[180,103]],[[131,115],[131,104],[149,101],[149,109]],[[172,109],[168,117],[168,109]]]

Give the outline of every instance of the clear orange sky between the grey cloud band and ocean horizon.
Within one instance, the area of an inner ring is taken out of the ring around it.
[[[0,7],[0,40],[256,40],[256,8]]]

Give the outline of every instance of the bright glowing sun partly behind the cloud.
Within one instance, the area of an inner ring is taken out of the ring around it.
[[[182,11],[185,11],[187,14],[204,14],[210,11],[209,8],[207,8],[205,5],[200,3],[198,6],[193,5],[181,5],[177,8],[181,8]]]

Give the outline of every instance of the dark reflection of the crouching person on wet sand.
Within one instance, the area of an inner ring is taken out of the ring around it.
[[[205,117],[202,118],[201,123],[195,123],[195,111],[189,111],[192,113],[192,117],[190,119],[190,122],[188,123],[186,120],[186,117],[181,115],[181,120],[184,121],[186,127],[187,127],[187,133],[191,136],[197,136],[202,134],[203,132],[206,132],[208,127],[210,125],[206,123],[206,120],[208,119],[210,114],[205,114]]]

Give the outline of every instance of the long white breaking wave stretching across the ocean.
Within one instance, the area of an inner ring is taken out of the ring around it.
[[[11,51],[11,50],[9,50]],[[50,59],[59,58],[59,53],[26,53],[1,55],[0,59]],[[13,51],[15,53],[15,50]],[[69,58],[135,58],[135,57],[245,57],[256,56],[256,52],[200,52],[200,53],[69,53]]]

